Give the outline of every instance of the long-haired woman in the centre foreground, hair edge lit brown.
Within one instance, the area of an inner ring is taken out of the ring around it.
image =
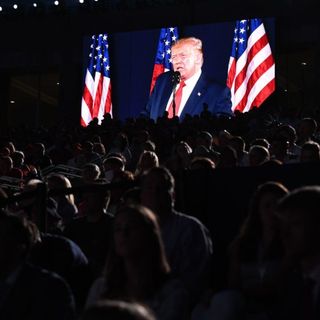
[[[99,299],[143,303],[159,320],[187,319],[187,291],[171,277],[157,218],[146,207],[118,210],[105,272],[93,283],[87,306]]]

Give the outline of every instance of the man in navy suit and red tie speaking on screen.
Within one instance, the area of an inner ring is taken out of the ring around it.
[[[232,114],[229,88],[210,81],[202,72],[203,52],[200,39],[178,40],[171,48],[173,71],[162,73],[146,106],[147,115],[156,120],[200,114],[204,107],[213,114]],[[173,96],[175,95],[175,103]]]

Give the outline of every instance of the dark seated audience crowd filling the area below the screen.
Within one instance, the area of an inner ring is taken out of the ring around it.
[[[2,130],[0,318],[320,319],[319,119],[279,114]]]

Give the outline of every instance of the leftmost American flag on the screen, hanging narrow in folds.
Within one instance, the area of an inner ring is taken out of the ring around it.
[[[91,37],[89,62],[81,103],[81,125],[86,127],[93,118],[99,124],[105,113],[112,115],[110,60],[108,35]]]

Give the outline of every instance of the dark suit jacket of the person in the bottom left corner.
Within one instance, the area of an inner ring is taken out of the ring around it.
[[[72,320],[73,295],[57,274],[26,264],[0,306],[0,319]]]

